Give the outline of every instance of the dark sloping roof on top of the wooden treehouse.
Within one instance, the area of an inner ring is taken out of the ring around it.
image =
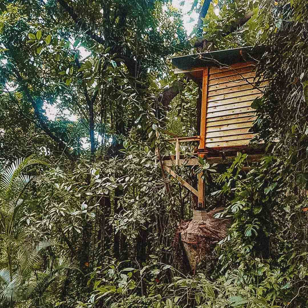
[[[240,54],[240,50],[245,51],[243,53],[244,56]],[[175,67],[187,70],[194,67],[218,66],[221,64],[230,65],[237,62],[249,61],[264,51],[264,46],[249,46],[173,57],[170,60]]]

